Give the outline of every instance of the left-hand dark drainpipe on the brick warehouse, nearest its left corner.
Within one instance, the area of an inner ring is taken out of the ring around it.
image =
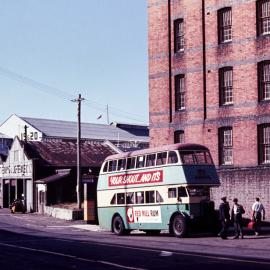
[[[171,41],[171,0],[168,0],[168,57],[169,57],[169,122],[172,123],[172,41]]]

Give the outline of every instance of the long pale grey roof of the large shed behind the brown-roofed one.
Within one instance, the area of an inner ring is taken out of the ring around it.
[[[21,117],[24,121],[44,133],[48,137],[76,138],[77,123],[62,120]],[[149,142],[148,129],[129,125],[123,129],[117,125],[81,123],[82,139],[98,139],[111,141],[143,141]],[[138,126],[139,127],[139,126]],[[129,130],[130,129],[130,130]]]

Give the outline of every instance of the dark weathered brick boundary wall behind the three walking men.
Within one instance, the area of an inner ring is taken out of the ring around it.
[[[270,221],[270,168],[247,167],[218,170],[221,186],[211,190],[211,199],[217,209],[220,198],[227,196],[230,207],[233,199],[238,198],[244,206],[244,217],[251,216],[251,206],[259,197],[266,211],[266,220]]]

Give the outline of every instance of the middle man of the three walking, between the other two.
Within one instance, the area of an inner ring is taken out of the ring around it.
[[[244,234],[243,234],[243,219],[242,215],[245,213],[245,210],[241,204],[238,204],[238,199],[235,198],[233,199],[234,205],[232,207],[232,221],[234,224],[234,238],[233,239],[238,239],[239,236],[243,239]]]

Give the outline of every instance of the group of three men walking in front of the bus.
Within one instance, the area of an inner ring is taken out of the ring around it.
[[[243,218],[242,215],[245,213],[244,207],[238,203],[238,199],[233,199],[233,206],[230,213],[230,205],[227,201],[227,197],[221,198],[219,205],[219,219],[221,222],[221,231],[218,234],[222,239],[228,239],[228,228],[230,222],[234,225],[234,237],[233,239],[244,238],[243,233]],[[252,205],[251,220],[254,223],[254,231],[256,235],[259,235],[261,230],[261,221],[265,219],[265,209],[263,204],[260,202],[260,198],[256,198]]]

